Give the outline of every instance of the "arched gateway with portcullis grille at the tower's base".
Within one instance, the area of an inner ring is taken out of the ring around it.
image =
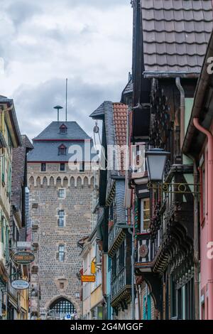
[[[66,298],[58,298],[50,304],[50,317],[53,318],[70,318],[75,319],[76,309],[75,306]]]

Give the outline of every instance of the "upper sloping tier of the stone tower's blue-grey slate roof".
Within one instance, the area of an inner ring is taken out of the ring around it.
[[[65,124],[67,126],[67,133],[60,134],[60,126]],[[38,136],[35,140],[45,140],[45,139],[69,139],[69,140],[84,140],[91,139],[86,132],[77,124],[77,122],[52,122],[50,123]]]

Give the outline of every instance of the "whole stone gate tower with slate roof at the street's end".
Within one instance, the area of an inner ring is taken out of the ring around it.
[[[92,139],[76,122],[52,122],[33,139],[33,146],[28,154],[35,254],[31,265],[31,317],[44,317],[48,312],[48,316],[57,318],[67,314],[80,318],[82,264],[77,242],[92,228],[95,176],[90,168],[90,150],[88,153]],[[75,159],[77,147],[83,152],[81,163]]]

